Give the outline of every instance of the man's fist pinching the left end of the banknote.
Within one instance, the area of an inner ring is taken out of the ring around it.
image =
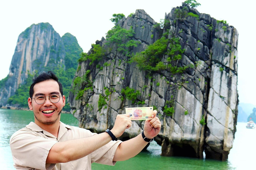
[[[131,118],[129,114],[121,114],[116,116],[114,127],[110,130],[116,137],[121,136],[125,129],[132,126]]]

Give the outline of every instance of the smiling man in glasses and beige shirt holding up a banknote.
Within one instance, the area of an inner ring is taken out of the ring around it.
[[[127,141],[115,141],[131,127],[128,114],[117,115],[114,127],[96,134],[84,128],[60,122],[65,96],[57,76],[48,71],[34,77],[29,90],[28,106],[35,122],[15,132],[10,147],[16,169],[84,170],[97,162],[115,165],[137,155],[160,131],[161,122],[153,111],[144,131]],[[112,141],[113,140],[113,141]]]

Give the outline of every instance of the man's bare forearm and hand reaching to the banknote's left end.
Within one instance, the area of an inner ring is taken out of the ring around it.
[[[116,137],[131,127],[129,115],[117,115],[115,125],[111,129]],[[112,138],[106,132],[86,138],[58,142],[50,149],[46,163],[64,163],[80,159],[110,142]]]

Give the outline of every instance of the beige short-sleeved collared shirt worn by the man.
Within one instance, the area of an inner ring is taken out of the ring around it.
[[[21,170],[90,170],[91,163],[115,165],[117,146],[122,142],[110,141],[91,154],[67,163],[45,164],[49,150],[57,142],[97,135],[87,129],[60,123],[58,138],[43,130],[34,122],[15,132],[10,138],[14,167]]]

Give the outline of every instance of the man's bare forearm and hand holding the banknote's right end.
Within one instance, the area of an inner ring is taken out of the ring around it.
[[[161,122],[159,118],[156,117],[156,113],[157,111],[154,110],[152,114],[153,119],[145,121],[144,134],[149,139],[154,138],[160,132]],[[148,142],[144,141],[141,134],[124,141],[117,147],[113,161],[124,161],[130,159],[140,153],[147,144]]]

